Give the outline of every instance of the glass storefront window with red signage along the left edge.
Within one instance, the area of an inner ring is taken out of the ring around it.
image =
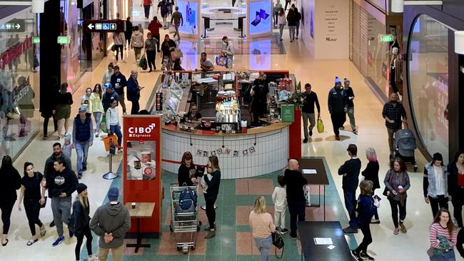
[[[0,157],[15,158],[39,130],[36,22],[31,8],[0,19]]]

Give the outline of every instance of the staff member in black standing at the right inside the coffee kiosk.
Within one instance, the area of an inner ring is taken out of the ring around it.
[[[259,126],[259,118],[262,118],[268,111],[268,93],[269,86],[266,81],[266,73],[259,73],[259,78],[253,81],[251,88],[251,125]]]

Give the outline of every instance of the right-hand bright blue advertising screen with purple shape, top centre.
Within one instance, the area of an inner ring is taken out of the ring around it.
[[[272,26],[272,10],[271,0],[253,1],[250,2],[248,10],[249,34],[263,34],[271,31]]]

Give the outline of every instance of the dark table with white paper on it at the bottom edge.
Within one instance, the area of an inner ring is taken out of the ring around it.
[[[296,227],[301,240],[301,260],[304,257],[306,261],[353,261],[340,222],[298,221]],[[335,248],[329,250],[328,245],[316,245],[314,237],[331,237]]]

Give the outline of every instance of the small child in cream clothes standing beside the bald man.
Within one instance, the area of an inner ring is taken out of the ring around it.
[[[287,192],[285,188],[285,178],[283,175],[277,176],[278,186],[272,193],[272,202],[274,203],[274,225],[278,231],[278,225],[281,225],[280,233],[283,235],[288,232],[285,227],[285,215],[287,210]]]

